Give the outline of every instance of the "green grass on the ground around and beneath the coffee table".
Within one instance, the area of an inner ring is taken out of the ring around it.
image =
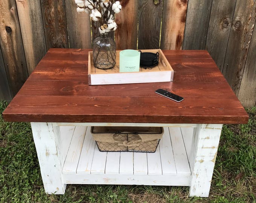
[[[0,102],[0,202],[256,202],[256,108],[248,124],[224,125],[209,198],[188,197],[189,187],[67,185],[64,195],[44,193],[29,123],[4,122]]]

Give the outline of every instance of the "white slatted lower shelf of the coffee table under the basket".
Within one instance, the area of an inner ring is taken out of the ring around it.
[[[62,126],[61,126],[62,127]],[[67,126],[62,127],[67,130]],[[194,128],[164,127],[155,153],[100,152],[90,127],[73,127],[62,168],[67,184],[190,185]]]

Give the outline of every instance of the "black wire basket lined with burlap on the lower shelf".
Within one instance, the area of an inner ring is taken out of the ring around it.
[[[96,126],[91,127],[91,134],[101,151],[154,152],[163,128]]]

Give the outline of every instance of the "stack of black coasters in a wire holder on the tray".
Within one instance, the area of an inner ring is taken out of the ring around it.
[[[140,67],[151,68],[158,65],[159,53],[140,52]]]

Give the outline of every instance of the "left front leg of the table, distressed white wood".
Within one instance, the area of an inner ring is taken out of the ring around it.
[[[52,123],[31,123],[37,149],[41,176],[47,194],[64,194],[66,184],[62,180],[61,153],[58,141],[58,126]]]

